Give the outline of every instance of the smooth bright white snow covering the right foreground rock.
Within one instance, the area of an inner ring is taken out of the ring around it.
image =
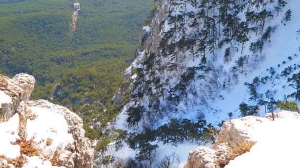
[[[286,114],[285,118],[253,126],[257,143],[250,152],[231,160],[225,168],[298,168],[300,122],[292,116],[292,112]]]

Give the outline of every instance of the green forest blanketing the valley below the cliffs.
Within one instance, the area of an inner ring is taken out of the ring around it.
[[[71,32],[75,2],[81,10]],[[117,113],[111,99],[153,6],[152,0],[0,0],[0,73],[33,75],[32,99],[81,109],[87,136],[96,139],[100,131],[90,124],[106,124]]]

